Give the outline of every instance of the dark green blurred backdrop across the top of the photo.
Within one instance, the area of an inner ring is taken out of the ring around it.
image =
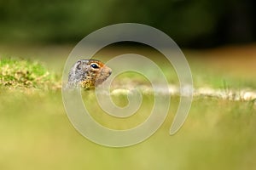
[[[253,0],[1,0],[1,42],[73,43],[91,31],[136,22],[165,31],[183,47],[256,40]]]

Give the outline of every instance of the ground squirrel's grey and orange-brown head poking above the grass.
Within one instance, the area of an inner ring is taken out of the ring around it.
[[[112,70],[96,59],[79,59],[68,74],[67,88],[96,88],[110,75]]]

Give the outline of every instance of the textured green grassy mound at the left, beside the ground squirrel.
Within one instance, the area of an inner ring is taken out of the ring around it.
[[[47,68],[26,59],[0,59],[0,88],[54,88],[56,76]]]

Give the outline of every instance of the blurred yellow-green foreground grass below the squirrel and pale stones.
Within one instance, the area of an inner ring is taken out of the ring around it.
[[[150,96],[143,96],[151,98]],[[122,97],[120,97],[122,99]],[[93,98],[86,98],[89,110]],[[253,102],[195,98],[180,131],[169,135],[178,98],[166,122],[149,139],[108,148],[84,139],[68,121],[61,92],[0,93],[1,169],[253,169],[256,108]],[[148,110],[139,111],[148,115]],[[96,116],[99,119],[99,116]],[[137,117],[143,122],[144,117]],[[116,123],[101,116],[103,125]],[[132,122],[123,121],[121,127]]]

